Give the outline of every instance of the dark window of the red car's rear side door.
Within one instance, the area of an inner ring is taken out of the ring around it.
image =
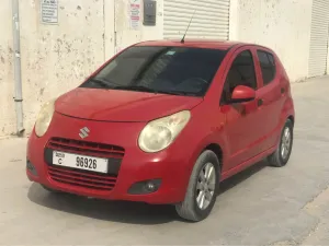
[[[272,54],[261,50],[257,51],[257,56],[262,70],[263,83],[266,85],[271,83],[275,77],[276,71],[274,57]]]

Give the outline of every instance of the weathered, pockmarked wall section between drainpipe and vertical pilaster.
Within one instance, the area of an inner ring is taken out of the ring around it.
[[[20,1],[24,125],[104,61],[103,1],[59,1],[59,23],[39,22],[39,0]]]

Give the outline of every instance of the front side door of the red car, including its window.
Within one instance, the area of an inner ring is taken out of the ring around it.
[[[228,145],[224,172],[259,154],[259,140],[264,133],[258,110],[259,74],[257,74],[251,48],[238,49],[228,62],[227,71],[224,72],[225,83],[220,107],[226,115],[224,132]],[[238,85],[254,89],[256,98],[246,103],[230,103],[232,91]]]

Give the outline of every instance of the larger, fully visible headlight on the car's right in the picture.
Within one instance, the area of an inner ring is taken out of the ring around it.
[[[169,147],[191,118],[189,110],[152,120],[146,125],[138,138],[138,145],[145,152],[158,152]]]

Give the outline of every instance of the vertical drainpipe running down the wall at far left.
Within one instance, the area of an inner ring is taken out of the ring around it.
[[[22,78],[21,78],[21,45],[20,45],[20,15],[19,0],[12,0],[12,32],[14,50],[14,102],[16,109],[16,134],[24,132],[23,107],[22,107]]]

